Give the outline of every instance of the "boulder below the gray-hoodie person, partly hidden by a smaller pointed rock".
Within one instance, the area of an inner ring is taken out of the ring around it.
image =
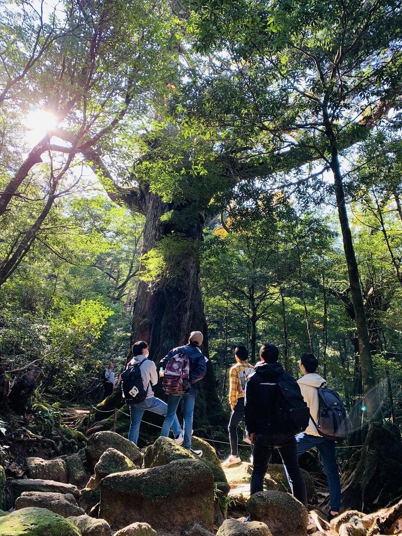
[[[125,437],[115,432],[97,432],[90,436],[85,447],[86,457],[92,469],[98,463],[103,452],[110,448],[116,449],[124,454],[135,465],[141,466],[143,463],[142,453],[132,441],[125,439]]]

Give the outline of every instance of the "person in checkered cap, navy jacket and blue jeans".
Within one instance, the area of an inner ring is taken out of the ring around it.
[[[163,421],[161,436],[168,437],[170,427],[174,421],[178,404],[183,399],[183,420],[184,420],[184,442],[183,447],[190,450],[196,456],[202,456],[202,450],[191,449],[191,433],[192,433],[192,416],[194,413],[194,405],[196,401],[198,386],[197,382],[205,376],[206,373],[206,359],[200,350],[204,336],[200,331],[192,331],[189,337],[189,343],[184,346],[178,346],[173,348],[170,352],[160,361],[159,366],[165,370],[167,362],[170,358],[178,353],[187,354],[190,362],[190,387],[184,394],[169,393],[168,396],[168,408]]]

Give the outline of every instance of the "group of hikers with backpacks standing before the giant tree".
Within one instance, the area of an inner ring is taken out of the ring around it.
[[[132,346],[133,358],[117,379],[114,377],[114,366],[109,365],[105,371],[105,377],[108,376],[105,385],[110,384],[107,387],[110,394],[114,386],[121,383],[123,397],[130,408],[130,441],[137,443],[140,423],[147,410],[165,416],[162,437],[168,437],[171,429],[178,445],[196,456],[203,455],[202,450],[191,448],[197,384],[205,376],[207,368],[207,359],[200,349],[203,339],[201,332],[192,331],[187,345],[173,348],[160,361],[159,374],[155,363],[148,359],[149,350],[145,341],[138,341]],[[234,358],[236,363],[229,371],[229,404],[232,408],[228,426],[230,455],[222,465],[229,467],[241,463],[237,429],[244,421],[244,438],[252,446],[250,495],[263,490],[265,474],[273,451],[277,449],[293,495],[307,507],[306,485],[298,457],[316,447],[327,475],[330,517],[337,516],[341,489],[335,442],[332,437],[323,435],[317,425],[320,416],[318,391],[326,388],[325,379],[316,373],[317,358],[311,353],[301,356],[299,367],[303,376],[297,382],[279,363],[279,350],[273,344],[266,343],[260,347],[260,361],[255,366],[248,362],[245,346],[235,347]],[[167,404],[155,397],[152,389],[159,377],[168,394]],[[176,415],[181,400],[183,427]],[[339,404],[342,405],[341,401]]]

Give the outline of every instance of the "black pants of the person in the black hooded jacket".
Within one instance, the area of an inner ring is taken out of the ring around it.
[[[273,445],[271,437],[257,434],[254,444],[250,495],[264,490],[264,477],[273,449],[278,449],[279,451],[293,495],[307,508],[306,485],[297,461],[297,445],[293,436],[283,445]]]

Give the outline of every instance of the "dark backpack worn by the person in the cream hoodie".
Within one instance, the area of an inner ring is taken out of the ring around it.
[[[323,384],[324,385],[324,384]],[[332,441],[342,441],[351,433],[351,420],[339,394],[326,386],[318,388],[318,420],[314,422],[319,435]]]

